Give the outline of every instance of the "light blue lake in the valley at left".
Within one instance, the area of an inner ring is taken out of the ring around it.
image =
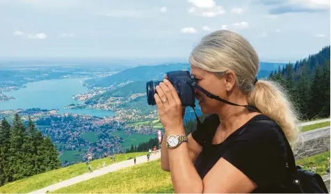
[[[88,92],[88,88],[82,84],[84,80],[86,79],[51,79],[26,83],[26,88],[3,92],[4,95],[15,97],[15,100],[0,102],[0,110],[45,108],[58,109],[58,113],[75,113],[97,117],[115,115],[113,111],[64,108],[69,104],[83,104],[83,102],[73,99],[72,95]]]

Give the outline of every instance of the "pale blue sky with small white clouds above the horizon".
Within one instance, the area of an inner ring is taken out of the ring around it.
[[[227,29],[261,61],[330,45],[329,0],[0,0],[0,58],[178,58]]]

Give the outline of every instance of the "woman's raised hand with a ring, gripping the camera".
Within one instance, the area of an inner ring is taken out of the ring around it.
[[[164,79],[156,86],[156,92],[154,99],[165,133],[185,134],[181,101],[172,83]]]

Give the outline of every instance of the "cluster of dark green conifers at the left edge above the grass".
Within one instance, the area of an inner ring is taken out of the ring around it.
[[[2,120],[0,140],[0,186],[60,167],[55,145],[35,129],[31,118],[27,128],[18,114],[11,126]]]

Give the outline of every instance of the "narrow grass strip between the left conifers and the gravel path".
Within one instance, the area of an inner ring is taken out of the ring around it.
[[[127,159],[133,158],[135,156],[146,155],[147,152],[139,153],[129,153],[129,154],[116,154],[116,161],[112,162],[110,158],[99,159],[90,162],[92,170],[97,169],[97,165],[102,165],[103,161],[106,161],[106,165],[111,163],[116,163],[119,161],[125,161]],[[27,177],[25,179],[20,179],[4,186],[0,187],[0,193],[29,193],[31,191],[44,188],[51,184],[56,184],[59,181],[64,181],[78,175],[83,175],[88,172],[88,166],[85,163],[77,163],[70,165],[65,168],[59,168],[57,170],[51,170],[49,172],[44,172],[39,175],[34,175],[32,177]]]

